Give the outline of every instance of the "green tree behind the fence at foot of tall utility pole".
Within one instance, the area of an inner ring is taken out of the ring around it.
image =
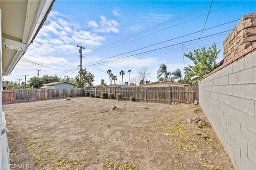
[[[75,81],[77,84],[80,82],[80,70],[78,71],[78,75],[75,77]],[[93,86],[94,75],[91,72],[82,69],[82,87]]]

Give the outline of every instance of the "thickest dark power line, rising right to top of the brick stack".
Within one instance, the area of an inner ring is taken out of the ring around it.
[[[222,25],[225,25],[225,24],[228,24],[228,23],[231,23],[231,22],[235,22],[235,21],[238,21],[238,20],[239,20],[239,19],[233,20],[233,21],[229,21],[229,22],[226,22],[226,23],[222,23],[222,24],[219,24],[219,25],[215,25],[214,27],[210,27],[210,28],[207,28],[207,29],[205,29],[205,30],[217,28],[217,27],[220,27],[220,26],[222,26]],[[165,41],[161,41],[161,42],[159,42],[159,43],[152,44],[152,45],[149,45],[149,46],[146,46],[146,47],[141,47],[141,48],[138,48],[138,49],[134,49],[134,50],[131,50],[131,51],[129,51],[129,52],[125,52],[125,53],[122,53],[122,54],[118,54],[118,55],[114,55],[114,56],[111,56],[111,57],[103,58],[103,59],[98,60],[98,61],[96,61],[96,62],[103,61],[103,60],[106,60],[106,59],[108,59],[108,58],[114,58],[114,57],[117,57],[117,56],[119,56],[119,55],[124,55],[124,54],[128,54],[128,53],[132,53],[132,52],[135,52],[135,51],[137,51],[137,50],[145,49],[145,48],[148,48],[148,47],[151,47],[151,46],[163,44],[163,43],[166,43],[166,42],[168,42],[168,41],[172,41],[172,40],[179,39],[179,38],[182,38],[182,37],[190,36],[190,35],[193,35],[193,34],[195,34],[195,33],[201,32],[201,31],[202,31],[202,30],[195,31],[195,32],[192,32],[192,33],[188,33],[187,35],[175,37],[175,38],[172,38],[172,39],[169,39],[169,40],[165,40]]]

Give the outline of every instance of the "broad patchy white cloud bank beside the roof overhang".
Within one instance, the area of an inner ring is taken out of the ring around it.
[[[97,31],[90,30],[86,27],[87,24],[82,25],[74,22],[72,16],[64,15],[58,11],[51,11],[24,57],[35,63],[60,70],[77,67],[79,65],[77,44],[85,46],[83,53],[89,53],[93,47],[101,45],[106,40],[106,33],[119,32],[118,22],[107,19],[105,16],[101,16],[98,23],[89,21],[88,24],[91,25],[91,28],[97,29]],[[22,78],[22,74],[34,77],[36,76],[35,69],[41,69],[41,75],[54,75],[60,72],[30,63],[21,58],[7,78]],[[69,72],[66,75],[69,74],[71,73]],[[74,71],[73,75],[75,74],[77,74],[76,71]]]

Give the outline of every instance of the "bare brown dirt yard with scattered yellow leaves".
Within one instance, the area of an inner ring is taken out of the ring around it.
[[[234,169],[199,105],[81,97],[3,109],[13,169]]]

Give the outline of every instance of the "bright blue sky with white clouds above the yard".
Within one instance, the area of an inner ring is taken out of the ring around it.
[[[55,1],[34,42],[4,80],[25,81],[22,74],[35,77],[36,69],[41,70],[39,77],[48,74],[74,78],[80,64],[77,45],[85,47],[83,68],[95,75],[94,85],[100,84],[101,79],[109,84],[109,69],[117,75],[118,84],[122,83],[120,70],[125,71],[124,81],[129,81],[127,70],[132,70],[131,78],[135,79],[138,70],[147,66],[147,80],[151,82],[157,81],[156,72],[162,63],[169,72],[183,72],[184,65],[192,64],[186,57],[183,60],[183,53],[209,48],[213,43],[221,49],[221,61],[223,40],[238,19],[255,12],[256,1],[213,1],[207,18],[210,4],[211,1]],[[223,25],[211,28],[220,24]],[[202,31],[204,25],[206,30]]]

